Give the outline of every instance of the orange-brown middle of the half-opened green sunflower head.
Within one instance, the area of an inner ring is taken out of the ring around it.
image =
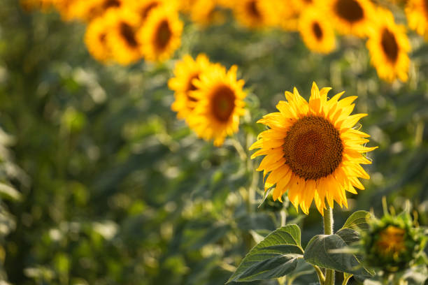
[[[383,231],[380,231],[376,247],[380,254],[393,255],[399,254],[401,251],[406,250],[404,244],[405,231],[396,226],[387,226]]]

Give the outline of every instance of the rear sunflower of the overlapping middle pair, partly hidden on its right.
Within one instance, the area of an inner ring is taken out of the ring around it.
[[[190,55],[185,55],[176,64],[173,71],[175,77],[168,81],[168,86],[175,92],[176,100],[171,105],[171,109],[178,112],[178,119],[186,119],[194,109],[197,98],[192,93],[197,90],[197,87],[194,86],[193,80],[199,79],[199,76],[210,66],[211,63],[205,54],[199,54],[196,60]]]

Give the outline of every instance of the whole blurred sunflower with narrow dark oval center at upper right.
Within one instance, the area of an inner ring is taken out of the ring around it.
[[[389,10],[378,8],[378,22],[369,33],[367,47],[371,54],[371,63],[376,67],[380,78],[392,82],[395,78],[406,82],[411,50],[406,36],[406,28],[394,22]]]

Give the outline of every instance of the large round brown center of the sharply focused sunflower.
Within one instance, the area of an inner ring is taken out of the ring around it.
[[[336,170],[343,145],[338,130],[323,117],[299,119],[284,140],[285,163],[305,180],[318,180]]]

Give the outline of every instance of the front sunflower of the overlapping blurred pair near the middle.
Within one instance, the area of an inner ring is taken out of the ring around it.
[[[192,81],[197,88],[192,96],[198,103],[187,122],[200,138],[213,139],[215,146],[238,131],[239,117],[244,113],[244,81],[236,80],[237,69],[232,66],[226,71],[220,64],[211,65]]]

